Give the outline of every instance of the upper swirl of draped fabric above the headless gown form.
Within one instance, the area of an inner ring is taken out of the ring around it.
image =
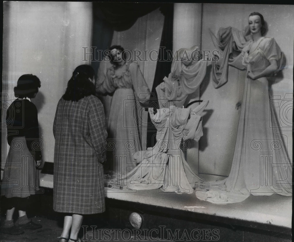
[[[164,77],[164,82],[156,88],[158,96],[165,97],[165,99],[158,100],[160,108],[167,105],[182,107],[188,95],[199,88],[206,75],[208,62],[196,61],[197,53],[199,53],[199,48],[193,46],[190,49],[182,48],[175,55],[171,73],[168,77]]]

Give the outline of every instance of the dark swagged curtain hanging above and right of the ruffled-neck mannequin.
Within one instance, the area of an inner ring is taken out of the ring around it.
[[[93,2],[93,40],[92,47],[96,47],[95,59],[102,59],[101,51],[107,50],[113,38],[113,31],[125,31],[136,20],[151,11],[160,8],[164,15],[163,31],[158,61],[156,64],[152,94],[148,106],[158,108],[156,87],[163,82],[163,78],[171,71],[171,56],[173,50],[173,3],[123,3],[123,2]],[[100,51],[100,53],[98,53]],[[88,51],[88,53],[91,51]],[[91,65],[97,73],[99,61],[91,61]],[[156,143],[156,128],[148,115],[147,147],[153,147]]]

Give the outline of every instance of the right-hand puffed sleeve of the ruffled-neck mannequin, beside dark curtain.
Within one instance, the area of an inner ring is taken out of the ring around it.
[[[143,77],[140,67],[137,62],[131,62],[129,66],[131,72],[131,79],[133,83],[134,92],[136,94],[136,99],[140,103],[144,103],[149,100],[150,89]]]

